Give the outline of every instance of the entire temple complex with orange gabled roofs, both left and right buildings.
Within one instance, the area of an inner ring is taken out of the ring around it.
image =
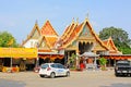
[[[86,62],[96,64],[97,59],[102,55],[112,64],[114,60],[117,59],[116,55],[122,55],[116,48],[111,37],[106,40],[98,37],[88,18],[85,18],[82,23],[73,20],[61,36],[57,34],[49,21],[46,21],[41,28],[35,23],[31,34],[22,42],[22,47],[38,49],[39,65],[45,62],[66,64],[72,54],[75,54],[79,59],[88,53],[95,55],[87,55]],[[91,61],[90,58],[93,58],[93,60]]]

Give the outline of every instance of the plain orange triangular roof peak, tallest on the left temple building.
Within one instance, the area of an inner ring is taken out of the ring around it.
[[[53,29],[49,21],[46,21],[40,32],[43,36],[57,36],[58,37],[58,34],[56,33],[56,30]]]

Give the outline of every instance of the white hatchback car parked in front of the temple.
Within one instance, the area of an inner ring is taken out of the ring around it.
[[[70,70],[60,63],[45,63],[40,65],[39,76],[49,76],[51,78],[56,76],[70,76]]]

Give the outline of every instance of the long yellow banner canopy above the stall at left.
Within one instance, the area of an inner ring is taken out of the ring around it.
[[[0,58],[37,58],[36,48],[0,48]]]

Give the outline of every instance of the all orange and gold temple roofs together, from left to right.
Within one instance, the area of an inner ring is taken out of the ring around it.
[[[115,52],[118,53],[118,49],[116,48],[111,37],[107,40],[100,40],[98,35],[94,32],[93,27],[91,26],[87,18],[84,22],[79,24],[79,22],[72,21],[72,23],[66,27],[62,36],[59,37],[55,28],[51,26],[49,21],[46,21],[45,24],[39,29],[38,24],[35,23],[31,34],[27,38],[22,42],[24,46],[29,39],[37,39],[39,51],[43,52],[51,52],[51,50],[56,47],[57,44],[60,46],[57,49],[66,49],[70,46],[74,40],[78,40],[79,37],[82,35],[82,32],[86,27],[86,33],[91,34],[91,38],[87,37],[86,39],[95,40],[99,47],[95,47],[94,50],[109,50],[110,53]],[[86,35],[86,34],[85,34]]]

